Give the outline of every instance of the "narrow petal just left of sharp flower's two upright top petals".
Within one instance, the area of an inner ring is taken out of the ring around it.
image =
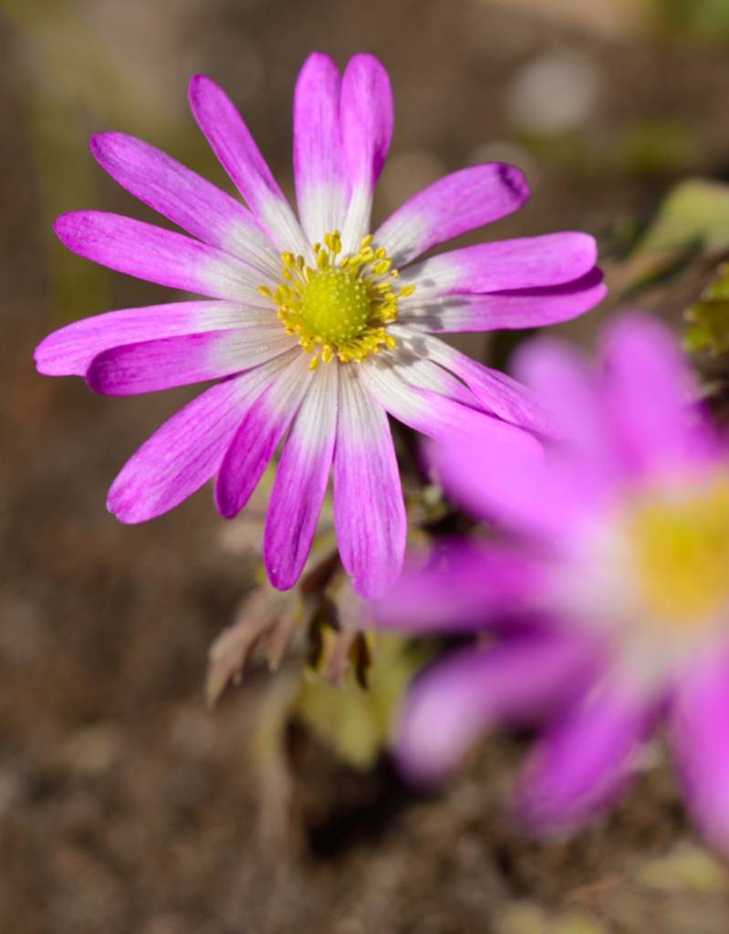
[[[210,78],[195,75],[190,106],[222,167],[276,247],[308,256],[301,226],[227,94]]]

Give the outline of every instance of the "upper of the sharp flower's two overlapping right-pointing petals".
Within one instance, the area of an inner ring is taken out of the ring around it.
[[[454,249],[401,271],[403,285],[415,286],[403,310],[436,295],[563,285],[591,272],[596,258],[594,238],[587,233],[547,233]]]

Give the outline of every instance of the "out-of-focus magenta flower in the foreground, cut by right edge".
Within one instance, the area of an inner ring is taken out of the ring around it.
[[[665,723],[693,816],[727,850],[729,450],[649,318],[611,324],[599,371],[537,339],[519,372],[565,442],[541,467],[479,441],[436,455],[463,502],[517,535],[453,545],[388,600],[402,626],[492,633],[416,683],[403,764],[434,779],[494,722],[546,717],[517,800],[534,827],[567,828],[613,800]]]

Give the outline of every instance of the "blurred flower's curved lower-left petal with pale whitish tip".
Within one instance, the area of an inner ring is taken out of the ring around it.
[[[487,729],[543,719],[579,689],[588,666],[580,644],[539,636],[436,662],[401,713],[395,743],[403,771],[418,783],[442,780]]]

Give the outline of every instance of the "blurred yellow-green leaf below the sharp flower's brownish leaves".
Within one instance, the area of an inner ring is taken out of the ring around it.
[[[407,639],[379,634],[367,688],[351,667],[341,687],[309,670],[295,710],[350,766],[369,769],[386,746],[407,685],[425,660],[424,650]]]

